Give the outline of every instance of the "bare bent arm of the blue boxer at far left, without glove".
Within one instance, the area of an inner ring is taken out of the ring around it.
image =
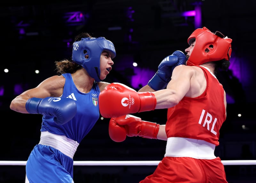
[[[52,76],[47,78],[36,88],[29,89],[15,97],[10,104],[10,109],[20,113],[28,113],[25,106],[29,98],[59,97],[62,95],[64,83],[65,78],[63,76]]]

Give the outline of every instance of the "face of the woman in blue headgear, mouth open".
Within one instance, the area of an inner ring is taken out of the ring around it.
[[[112,69],[111,65],[114,62],[111,59],[111,54],[107,51],[103,51],[100,55],[100,79],[104,80]]]

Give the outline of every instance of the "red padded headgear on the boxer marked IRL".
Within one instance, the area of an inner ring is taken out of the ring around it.
[[[195,39],[196,44],[187,65],[201,65],[205,62],[230,59],[232,39],[224,37],[219,31],[214,34],[206,27],[198,28],[188,37],[188,44],[191,45]]]

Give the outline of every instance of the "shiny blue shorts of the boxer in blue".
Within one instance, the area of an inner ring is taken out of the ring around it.
[[[73,159],[51,146],[37,144],[26,164],[29,183],[74,183]]]

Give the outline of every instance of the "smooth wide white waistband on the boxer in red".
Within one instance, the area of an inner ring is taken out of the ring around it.
[[[171,157],[192,157],[196,159],[215,159],[215,145],[203,140],[182,137],[167,139],[165,155]]]

